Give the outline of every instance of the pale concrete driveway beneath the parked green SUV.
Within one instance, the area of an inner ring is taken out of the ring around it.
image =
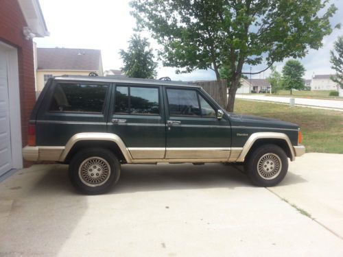
[[[0,256],[343,256],[342,167],[305,154],[257,188],[241,167],[124,165],[84,196],[67,166],[35,165],[0,184]]]

